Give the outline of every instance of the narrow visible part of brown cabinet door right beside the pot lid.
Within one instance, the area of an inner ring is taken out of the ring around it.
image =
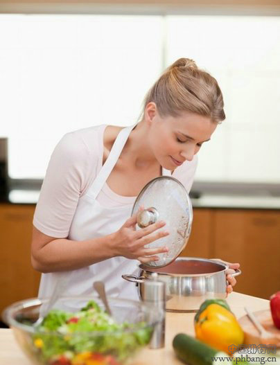
[[[211,244],[211,209],[194,208],[193,226],[191,236],[180,256],[187,257],[213,257],[213,245]]]

